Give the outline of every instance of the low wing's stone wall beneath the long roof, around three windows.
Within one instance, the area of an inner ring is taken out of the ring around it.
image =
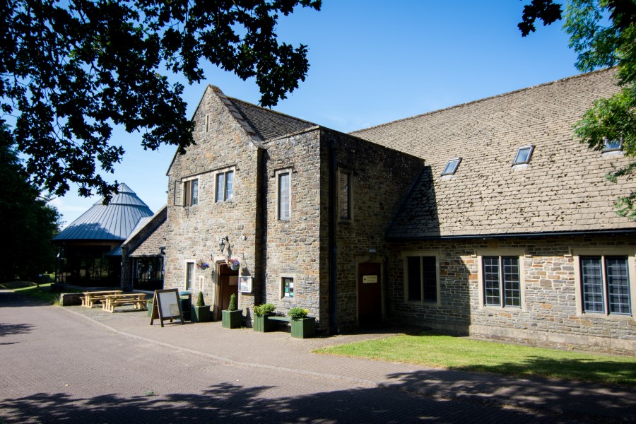
[[[418,251],[439,255],[441,296],[438,303],[406,300],[403,254]],[[629,257],[631,316],[582,312],[577,257],[591,251]],[[521,307],[483,306],[478,264],[484,252],[519,254]],[[636,353],[635,252],[633,237],[618,235],[394,243],[388,270],[390,311],[401,322],[457,334],[543,346]]]

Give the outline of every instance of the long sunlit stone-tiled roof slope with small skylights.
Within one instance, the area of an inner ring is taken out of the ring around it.
[[[572,137],[594,100],[618,91],[613,69],[565,78],[352,133],[418,155],[425,172],[391,224],[391,238],[636,228],[613,202],[635,182],[608,182],[623,155],[603,156]],[[528,165],[513,166],[534,145]],[[448,160],[461,157],[452,176]]]

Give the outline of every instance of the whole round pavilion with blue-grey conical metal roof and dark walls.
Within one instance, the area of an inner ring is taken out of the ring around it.
[[[96,201],[53,237],[60,249],[58,283],[120,285],[122,243],[153,212],[126,184],[119,184],[117,191],[109,204]]]

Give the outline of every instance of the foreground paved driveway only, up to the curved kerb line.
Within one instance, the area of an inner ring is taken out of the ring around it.
[[[261,348],[269,346],[263,343]],[[0,423],[3,419],[5,423],[586,422],[546,411],[405,393],[364,380],[228,363],[109,331],[61,307],[6,292],[0,293]]]

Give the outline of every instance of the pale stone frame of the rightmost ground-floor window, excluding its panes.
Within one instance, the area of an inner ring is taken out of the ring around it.
[[[633,248],[578,248],[572,249],[572,257],[575,262],[575,298],[577,303],[577,315],[589,317],[603,317],[607,319],[634,319],[636,308],[636,251]],[[581,273],[581,257],[601,257],[603,272],[603,312],[584,311],[583,298],[583,278]],[[631,314],[611,314],[608,307],[607,281],[605,278],[605,258],[606,257],[627,257],[628,276],[630,279],[630,311]]]

